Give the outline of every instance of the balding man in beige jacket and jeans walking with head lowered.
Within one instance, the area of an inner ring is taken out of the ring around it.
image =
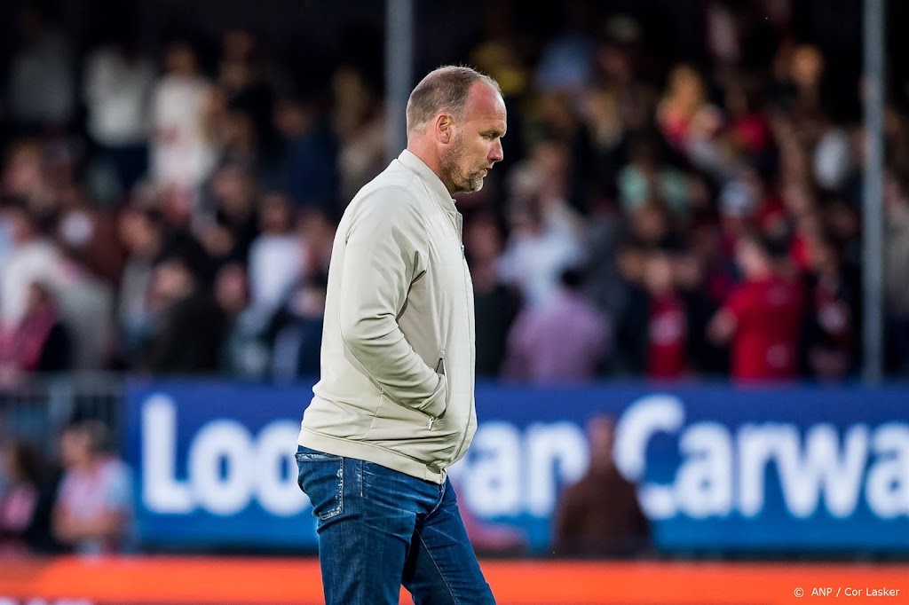
[[[328,605],[493,603],[445,471],[476,430],[474,293],[452,195],[502,160],[498,85],[441,67],[407,149],[356,194],[328,273],[322,376],[300,431]]]

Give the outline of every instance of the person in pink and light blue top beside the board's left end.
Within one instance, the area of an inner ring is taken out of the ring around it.
[[[133,487],[123,461],[107,453],[98,421],[67,427],[60,438],[64,475],[53,512],[55,538],[84,555],[132,548]]]

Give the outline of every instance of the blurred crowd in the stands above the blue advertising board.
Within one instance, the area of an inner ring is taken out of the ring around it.
[[[856,375],[861,79],[799,39],[792,5],[698,3],[692,61],[655,57],[644,23],[597,3],[567,3],[547,37],[513,2],[477,15],[449,62],[493,75],[509,109],[504,162],[458,201],[480,375]],[[0,96],[2,380],[315,375],[335,225],[389,161],[375,70],[297,73],[243,27],[214,60],[192,36],[140,49],[127,27],[73,53],[54,15],[18,17]],[[904,107],[888,101],[884,124],[886,362],[906,375]]]

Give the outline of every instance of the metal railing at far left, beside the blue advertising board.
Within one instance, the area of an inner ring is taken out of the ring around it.
[[[0,432],[24,437],[54,456],[69,422],[96,419],[111,429],[119,448],[124,377],[110,373],[30,375],[0,384]]]

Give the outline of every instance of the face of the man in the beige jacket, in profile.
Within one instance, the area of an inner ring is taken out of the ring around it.
[[[483,188],[486,174],[502,160],[505,122],[502,96],[487,84],[474,83],[464,116],[456,122],[442,156],[443,180],[451,184],[453,193]]]

